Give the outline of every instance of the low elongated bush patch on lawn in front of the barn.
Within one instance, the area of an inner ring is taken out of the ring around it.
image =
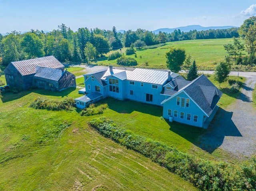
[[[31,104],[31,108],[47,109],[52,111],[72,110],[75,100],[73,98],[66,98],[64,100],[49,100],[48,98],[38,97]]]

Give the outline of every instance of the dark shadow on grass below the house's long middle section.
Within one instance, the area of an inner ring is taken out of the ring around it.
[[[131,100],[116,100],[114,98],[106,98],[102,100],[102,102],[106,102],[108,107],[111,110],[114,110],[118,113],[127,113],[130,114],[133,111],[138,111],[141,113],[150,114],[153,116],[162,116],[163,108],[161,106],[155,106],[140,102],[135,102]]]

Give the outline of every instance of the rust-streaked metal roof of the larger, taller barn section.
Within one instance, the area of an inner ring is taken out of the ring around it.
[[[60,63],[60,61],[58,61],[54,56],[46,56],[11,63],[23,76],[36,73],[36,66],[55,69],[64,67],[64,65]]]

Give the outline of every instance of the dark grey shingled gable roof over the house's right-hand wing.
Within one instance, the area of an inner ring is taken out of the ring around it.
[[[181,92],[186,93],[186,95],[188,95],[208,116],[212,113],[222,96],[222,92],[205,75],[194,79],[175,95]],[[161,104],[172,99],[175,95],[162,101]]]

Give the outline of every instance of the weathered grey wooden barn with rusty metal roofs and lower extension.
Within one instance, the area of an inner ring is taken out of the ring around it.
[[[54,56],[11,62],[4,70],[11,89],[22,91],[32,87],[61,91],[76,87],[75,76],[64,70]]]

